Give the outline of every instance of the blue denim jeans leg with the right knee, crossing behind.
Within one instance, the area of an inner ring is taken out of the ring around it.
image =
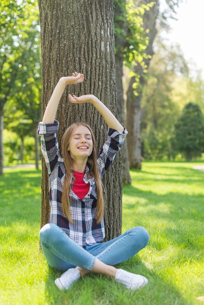
[[[103,263],[114,266],[133,257],[148,241],[149,234],[146,229],[135,227],[108,242],[89,246],[87,251]]]

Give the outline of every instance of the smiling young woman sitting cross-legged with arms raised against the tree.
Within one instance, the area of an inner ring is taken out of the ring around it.
[[[94,95],[69,95],[71,103],[92,103],[108,125],[107,140],[98,154],[91,128],[84,123],[72,124],[62,137],[62,156],[56,133],[57,108],[68,84],[83,81],[83,74],[61,77],[39,123],[41,150],[49,173],[50,221],[42,227],[42,251],[50,267],[65,271],[55,280],[59,289],[89,272],[115,278],[135,290],[148,283],[142,275],[117,265],[138,253],[149,240],[142,227],[129,229],[113,240],[103,242],[103,195],[101,178],[121,149],[127,131]]]

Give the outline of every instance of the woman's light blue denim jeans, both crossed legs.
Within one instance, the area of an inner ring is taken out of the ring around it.
[[[110,241],[86,245],[84,249],[71,240],[60,227],[46,224],[41,228],[40,241],[50,267],[61,271],[76,266],[92,270],[96,258],[114,266],[133,257],[147,245],[149,234],[143,227],[135,227]]]

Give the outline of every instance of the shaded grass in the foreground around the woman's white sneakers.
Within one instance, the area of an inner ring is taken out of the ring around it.
[[[129,290],[113,279],[102,275],[89,274],[66,291],[60,291],[54,280],[60,275],[49,269],[45,286],[46,301],[49,305],[190,305],[171,283],[164,282],[157,272],[149,271],[136,257],[120,264],[117,268],[143,274],[148,285],[140,290]]]

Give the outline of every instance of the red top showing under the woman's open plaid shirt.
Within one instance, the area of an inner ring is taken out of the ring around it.
[[[73,171],[74,174],[74,184],[72,186],[72,191],[80,198],[83,199],[87,192],[89,191],[89,183],[83,181],[84,172]]]

